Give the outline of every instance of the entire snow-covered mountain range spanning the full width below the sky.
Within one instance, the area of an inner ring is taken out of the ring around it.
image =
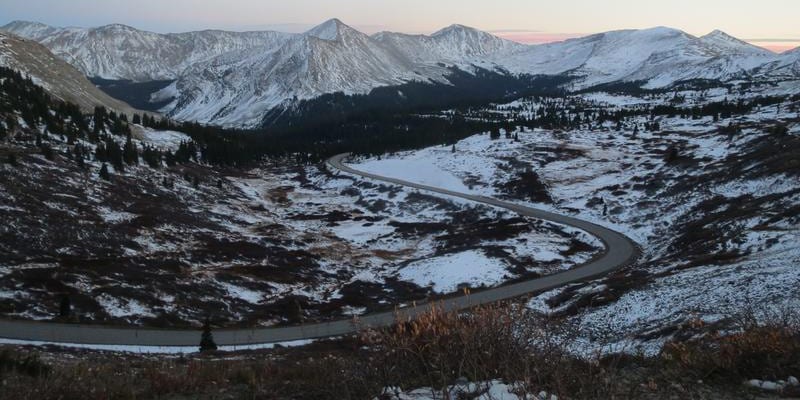
[[[301,34],[199,31],[157,34],[114,24],[0,28],[35,40],[84,75],[172,81],[154,102],[180,120],[258,126],[277,107],[323,94],[367,94],[408,82],[448,85],[453,69],[566,75],[568,89],[615,82],[664,88],[697,79],[800,79],[800,49],[775,54],[721,31],[695,37],[657,27],[524,45],[462,25],[431,35],[367,35],[337,19]],[[402,95],[400,93],[399,95]]]

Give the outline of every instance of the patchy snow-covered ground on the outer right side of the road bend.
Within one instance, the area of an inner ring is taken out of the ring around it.
[[[742,97],[771,93],[764,90],[771,89],[759,88]],[[673,96],[593,93],[583,99],[619,110],[666,104]],[[711,89],[686,91],[681,96],[687,104],[696,105],[731,94]],[[525,115],[526,109],[539,106],[521,100],[494,110],[509,115],[509,110],[517,110]],[[787,123],[790,134],[797,135],[796,108],[797,104],[791,103],[758,107],[748,115],[719,121],[659,117],[658,131],[644,129],[648,117],[629,118],[619,131],[611,123],[585,124],[563,132],[522,128],[513,132],[518,141],[492,140],[484,133],[456,143],[455,152],[450,146],[437,146],[381,159],[359,159],[353,166],[487,196],[507,196],[498,183],[532,169],[547,186],[553,203],[515,201],[608,226],[633,238],[644,252],[639,265],[626,272],[628,281],[566,289],[572,300],[594,299],[592,303],[604,304],[573,317],[585,339],[581,346],[644,346],[647,351],[657,351],[668,336],[657,334],[660,329],[679,328],[692,319],[715,323],[750,308],[800,307],[800,271],[794,268],[800,262],[800,221],[796,215],[779,216],[800,204],[797,175],[770,173],[771,167],[763,159],[751,164],[741,161],[748,159],[742,156],[748,152],[760,151],[756,154],[761,158],[771,154],[756,147],[765,142],[768,128],[777,122]],[[533,111],[527,113],[533,115]],[[731,123],[740,124],[742,133],[733,137],[719,133],[720,127]],[[681,149],[683,161],[678,165],[665,161],[670,146]],[[742,170],[731,173],[732,168]],[[721,205],[708,210],[714,202]],[[752,211],[726,214],[737,203]],[[717,219],[706,221],[706,215]],[[700,229],[721,232],[719,239],[692,236]],[[680,248],[688,240],[693,242],[683,246],[706,243],[708,247]],[[728,261],[714,259],[725,254],[734,255]],[[634,279],[636,274],[645,278]],[[630,282],[630,287],[625,282]],[[572,315],[572,300],[550,301],[564,291],[535,296],[530,307]]]

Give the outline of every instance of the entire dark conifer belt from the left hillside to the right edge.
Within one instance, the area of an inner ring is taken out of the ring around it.
[[[660,116],[729,118],[786,100],[800,100],[800,95],[772,96],[688,106],[683,105],[685,99],[676,92],[668,104],[613,109],[568,96],[558,89],[564,83],[558,79],[528,77],[523,81],[490,75],[475,81],[491,82],[489,86],[476,86],[468,76],[457,75],[453,79],[464,82],[455,85],[455,89],[411,83],[400,86],[402,90],[381,88],[368,95],[326,95],[301,102],[295,110],[282,110],[294,117],[268,115],[274,123],[258,130],[175,122],[152,115],[133,115],[129,121],[128,116],[102,107],[91,115],[84,115],[78,106],[51,99],[32,80],[7,68],[0,68],[0,104],[3,110],[18,113],[28,127],[40,128],[32,131],[41,132],[34,139],[46,156],[52,153],[48,137],[61,136],[74,146],[71,157],[82,165],[91,152],[78,141],[81,139],[95,145],[94,157],[98,161],[123,170],[126,165],[142,161],[152,168],[189,161],[245,166],[266,158],[316,163],[342,152],[375,155],[434,145],[449,146],[478,132],[490,132],[492,137],[499,138],[504,130],[511,138],[511,132],[522,128],[591,129],[608,122],[622,129],[629,118],[636,116],[650,117],[650,122],[642,129],[658,131],[657,117]],[[521,85],[522,89],[512,97],[527,95],[537,107],[520,102],[501,107],[503,112],[486,109],[489,101],[508,100],[509,91],[515,85]],[[450,107],[450,111],[440,112],[442,105],[453,104],[459,96],[465,99]],[[3,115],[5,121],[0,120],[0,138],[14,130],[20,119],[11,118],[13,114],[8,112]],[[179,131],[191,141],[182,143],[174,152],[147,145],[137,148],[139,146],[131,140],[132,124]]]

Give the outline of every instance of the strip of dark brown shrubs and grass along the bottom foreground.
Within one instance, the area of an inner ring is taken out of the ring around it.
[[[9,347],[0,352],[3,399],[390,398],[387,388],[445,390],[501,379],[520,395],[564,399],[746,398],[749,379],[800,375],[800,324],[732,321],[727,335],[673,341],[656,356],[569,350],[570,329],[515,305],[470,313],[432,310],[395,328],[296,349],[148,356]],[[480,387],[480,386],[478,386]],[[787,386],[775,395],[798,395]],[[480,389],[478,389],[480,390]],[[465,397],[470,398],[470,397]]]

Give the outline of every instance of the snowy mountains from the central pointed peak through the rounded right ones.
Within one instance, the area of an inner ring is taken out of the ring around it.
[[[367,37],[338,20],[275,51],[228,53],[188,69],[167,94],[178,119],[254,126],[269,110],[326,93],[368,93],[409,81],[447,83],[447,67],[577,77],[576,89],[619,81],[647,87],[745,76],[778,56],[721,31],[698,38],[658,27],[527,46],[453,25],[432,35]],[[285,108],[285,107],[284,107]]]

